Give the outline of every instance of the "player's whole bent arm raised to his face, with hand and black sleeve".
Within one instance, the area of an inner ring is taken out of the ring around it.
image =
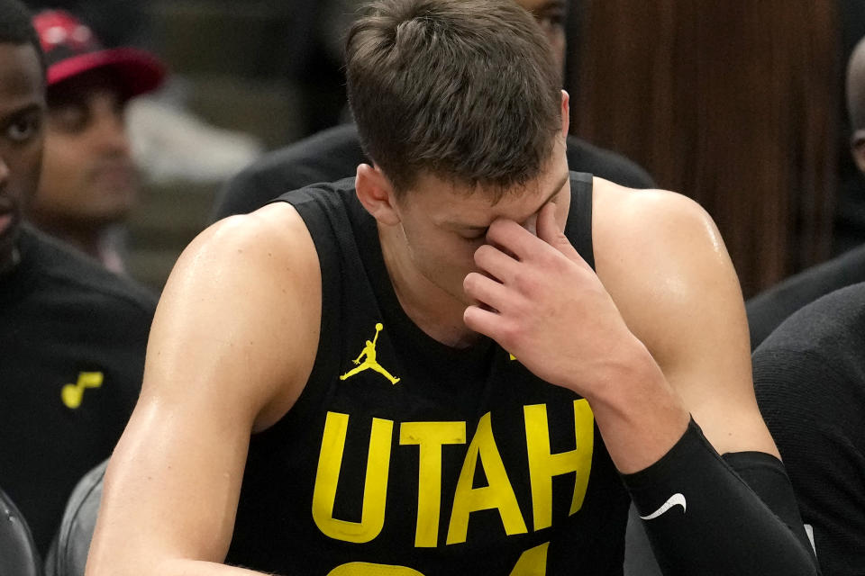
[[[597,275],[553,209],[538,218],[546,247],[494,223],[492,241],[515,258],[478,249],[492,279],[469,275],[466,288],[490,310],[469,307],[467,323],[587,398],[637,509],[655,517],[647,531],[666,573],[815,573],[754,399],[742,295],[714,224],[677,194],[596,180],[595,198]],[[752,457],[730,461],[740,476],[719,453]]]

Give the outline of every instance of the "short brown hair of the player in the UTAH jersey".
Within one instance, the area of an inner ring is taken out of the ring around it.
[[[346,66],[360,142],[397,193],[422,172],[505,190],[551,157],[560,71],[513,0],[379,0],[351,26]]]

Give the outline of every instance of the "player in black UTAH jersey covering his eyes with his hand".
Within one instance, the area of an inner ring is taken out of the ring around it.
[[[346,53],[374,162],[180,257],[88,574],[621,573],[632,499],[669,574],[815,574],[714,223],[569,171],[529,14],[382,1]]]

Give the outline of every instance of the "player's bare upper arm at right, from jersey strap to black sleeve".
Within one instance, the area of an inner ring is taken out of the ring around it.
[[[715,222],[678,193],[595,184],[597,275],[628,328],[719,452],[776,454],[753,397],[742,291]]]

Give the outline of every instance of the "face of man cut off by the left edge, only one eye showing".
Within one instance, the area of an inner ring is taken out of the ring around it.
[[[0,43],[0,272],[14,265],[23,209],[39,182],[44,85],[36,49]]]

